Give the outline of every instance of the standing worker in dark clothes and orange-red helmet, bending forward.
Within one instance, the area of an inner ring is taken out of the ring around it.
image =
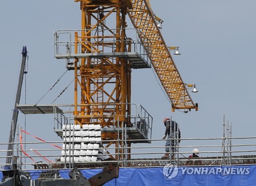
[[[165,143],[165,155],[161,157],[161,159],[166,159],[169,158],[169,151],[170,151],[170,141],[172,144],[172,152],[175,152],[175,148],[177,145],[177,140],[170,140],[170,138],[175,138],[180,139],[180,129],[178,127],[178,123],[176,123],[175,121],[172,121],[172,124],[170,124],[170,119],[169,118],[165,118],[163,120],[164,126],[165,126],[165,133],[163,136],[163,139],[166,138],[166,136],[168,136],[166,143]],[[180,140],[179,140],[180,142]],[[173,156],[174,157],[174,156]]]

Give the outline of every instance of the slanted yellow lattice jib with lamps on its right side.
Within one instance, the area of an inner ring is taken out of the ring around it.
[[[198,105],[189,96],[186,86],[183,83],[174,60],[170,55],[163,37],[157,26],[155,16],[148,0],[132,0],[133,8],[129,11],[129,16],[141,35],[141,41],[145,45],[151,46],[148,56],[151,57],[152,65],[158,75],[160,82],[172,102],[172,110],[191,109],[198,110]]]

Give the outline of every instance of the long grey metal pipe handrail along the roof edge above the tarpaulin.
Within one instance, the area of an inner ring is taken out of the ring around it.
[[[124,132],[124,131],[123,131]],[[124,133],[123,133],[124,134]],[[227,140],[228,138],[224,138],[224,140]],[[29,156],[22,154],[20,148],[14,148],[14,154],[19,154],[18,155],[18,164],[20,167],[23,167],[25,165],[31,165],[29,169],[38,169],[38,168],[44,168],[44,169],[56,169],[56,168],[71,168],[71,166],[76,165],[80,168],[89,168],[89,167],[102,167],[103,164],[106,163],[116,163],[120,164],[122,167],[136,167],[136,166],[164,166],[167,163],[170,163],[170,161],[175,161],[178,163],[178,165],[182,166],[189,166],[187,165],[187,162],[193,161],[193,158],[188,158],[188,155],[193,153],[193,148],[198,148],[200,150],[200,158],[197,158],[197,161],[202,161],[201,165],[223,165],[225,161],[225,165],[238,165],[238,164],[256,164],[256,144],[253,142],[255,141],[256,137],[232,137],[234,140],[239,140],[238,143],[232,144],[232,151],[226,151],[223,154],[223,148],[227,145],[226,143],[222,143],[223,138],[183,138],[182,144],[180,145],[177,150],[177,152],[174,152],[173,154],[176,156],[174,160],[169,160],[169,159],[161,159],[161,156],[165,154],[164,152],[164,142],[165,140],[163,139],[151,139],[153,142],[152,145],[143,145],[140,144],[139,146],[125,146],[126,149],[132,149],[131,152],[128,151],[123,151],[122,153],[118,153],[118,157],[120,157],[120,161],[118,160],[112,160],[112,159],[107,159],[105,161],[101,162],[74,162],[74,157],[77,157],[79,155],[74,155],[74,149],[72,146],[69,146],[69,149],[71,150],[72,153],[69,153],[67,155],[61,155],[62,149],[56,149],[54,147],[51,148],[44,148],[41,147],[41,145],[45,144],[53,144],[53,143],[62,143],[63,141],[52,141],[52,142],[14,142],[14,146],[19,146],[21,144],[27,144],[27,148],[33,148],[33,149],[24,149],[24,152],[29,154]],[[175,140],[175,139],[174,139]],[[215,142],[215,144],[212,145],[187,145],[188,143],[195,142],[195,140],[198,141],[211,141]],[[214,141],[212,141],[214,140]],[[246,143],[242,144],[242,141],[245,141]],[[109,140],[111,141],[111,140]],[[118,139],[119,142],[129,142],[131,140],[121,138]],[[249,143],[249,142],[252,143]],[[75,141],[71,141],[71,143],[75,143]],[[160,143],[160,145],[159,145]],[[0,143],[0,148],[3,149],[3,146],[6,147],[8,143]],[[62,146],[63,147],[63,146]],[[245,148],[246,147],[246,148]],[[122,147],[109,147],[108,151],[109,153],[101,153],[101,154],[96,154],[96,156],[103,155],[103,156],[108,156],[108,155],[116,155],[116,148],[122,148]],[[18,149],[18,150],[17,150]],[[90,148],[88,148],[89,150]],[[99,147],[98,149],[103,150],[104,148]],[[143,150],[141,150],[143,149]],[[226,148],[228,149],[228,148]],[[7,150],[0,150],[0,165],[5,166],[5,165],[10,165],[5,163],[5,158],[7,157],[6,154]],[[71,152],[70,151],[70,152]],[[35,153],[37,152],[37,153]],[[119,152],[119,151],[117,151]],[[232,156],[228,156],[228,153],[231,152]],[[131,155],[131,159],[129,159],[129,155]],[[59,159],[60,156],[66,156],[67,160],[69,159],[68,162],[58,162],[57,160]],[[70,157],[70,158],[68,158]],[[121,159],[121,157],[123,157]],[[225,157],[225,158],[224,158]],[[24,158],[26,158],[26,163],[23,161]],[[35,162],[33,162],[31,160]],[[51,162],[46,162],[44,158],[48,158]],[[40,160],[40,161],[38,161]],[[41,162],[41,163],[38,163]],[[63,165],[66,164],[64,167]],[[44,165],[47,165],[47,167],[44,167]],[[35,166],[33,168],[33,166]],[[40,167],[41,166],[41,167]]]

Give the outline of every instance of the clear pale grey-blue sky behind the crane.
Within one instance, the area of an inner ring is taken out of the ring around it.
[[[196,84],[199,90],[197,94],[190,93],[199,104],[198,112],[172,113],[153,71],[133,70],[132,102],[142,104],[153,116],[153,138],[162,138],[163,119],[170,116],[180,124],[182,138],[222,137],[223,115],[232,122],[233,137],[255,136],[256,1],[150,2],[154,13],[164,20],[164,41],[168,46],[180,47],[181,56],[173,58],[183,81]],[[3,143],[9,139],[22,46],[26,45],[29,52],[26,103],[36,103],[66,71],[66,61],[54,58],[53,33],[80,29],[79,3],[1,1],[0,22]],[[50,104],[72,79],[71,71],[39,103]],[[20,104],[24,103],[25,88],[20,100]],[[73,103],[73,86],[56,103]],[[45,122],[38,118],[26,118],[27,131],[45,140],[60,140],[53,132],[53,119]],[[20,114],[19,126],[24,127],[24,122]]]

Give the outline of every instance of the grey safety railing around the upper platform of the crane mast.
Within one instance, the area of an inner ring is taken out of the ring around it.
[[[117,33],[124,32],[124,30],[126,36],[121,39]],[[54,32],[54,55],[59,59],[70,59],[79,58],[79,56],[84,58],[85,55],[91,58],[102,58],[102,56],[129,57],[129,54],[138,54],[150,66],[151,45],[141,42],[139,36],[144,34],[139,32],[134,28],[58,30]],[[120,52],[117,47],[122,42],[125,43],[125,51]],[[145,41],[145,43],[149,43],[149,41]]]

